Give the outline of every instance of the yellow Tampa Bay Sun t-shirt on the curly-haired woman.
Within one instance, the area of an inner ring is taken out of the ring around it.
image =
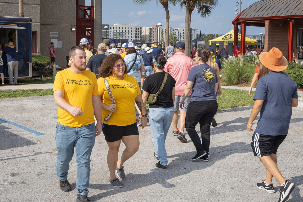
[[[136,123],[135,98],[141,94],[137,80],[128,74],[124,74],[124,79],[119,80],[110,75],[106,78],[111,87],[112,94],[116,101],[116,111],[112,113],[111,118],[106,122],[108,125],[128,126]],[[107,89],[103,78],[99,78],[98,89],[101,96],[101,102],[110,105]],[[110,111],[102,109],[102,121],[108,116]]]

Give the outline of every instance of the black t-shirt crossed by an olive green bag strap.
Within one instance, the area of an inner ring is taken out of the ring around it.
[[[164,80],[165,72],[156,72],[148,77],[146,77],[145,82],[142,86],[142,89],[148,92],[149,94],[156,94],[161,87],[161,84]],[[157,107],[173,107],[174,103],[172,102],[172,88],[176,86],[176,81],[170,74],[167,75],[166,83],[157,97],[157,102],[149,105],[150,108]]]

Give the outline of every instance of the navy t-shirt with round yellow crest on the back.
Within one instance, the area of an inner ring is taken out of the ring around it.
[[[218,82],[215,69],[208,64],[201,64],[191,68],[188,81],[194,82],[191,91],[191,102],[217,100],[215,84]]]

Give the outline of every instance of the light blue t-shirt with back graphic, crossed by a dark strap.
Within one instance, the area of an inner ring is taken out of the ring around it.
[[[134,63],[134,60],[135,60],[135,56],[136,56],[136,53],[131,53],[129,55],[126,55],[124,57],[124,61],[125,61],[125,64],[126,64],[126,69],[128,71],[128,69],[132,66],[132,64]],[[137,55],[137,59],[136,59],[136,62],[134,64],[134,66],[132,67],[132,69],[130,70],[130,72],[128,72],[128,75],[132,75],[135,77],[135,79],[138,81],[138,82],[141,82],[141,78],[140,78],[140,69],[141,69],[141,65],[144,64],[144,61],[142,59],[142,56],[140,55]]]

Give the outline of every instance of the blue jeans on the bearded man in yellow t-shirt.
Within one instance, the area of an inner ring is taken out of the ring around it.
[[[88,195],[89,175],[91,172],[90,156],[95,145],[95,123],[82,127],[68,127],[59,123],[56,125],[56,145],[58,149],[57,176],[67,180],[69,162],[76,147],[76,162],[78,163],[76,190],[77,194]]]

